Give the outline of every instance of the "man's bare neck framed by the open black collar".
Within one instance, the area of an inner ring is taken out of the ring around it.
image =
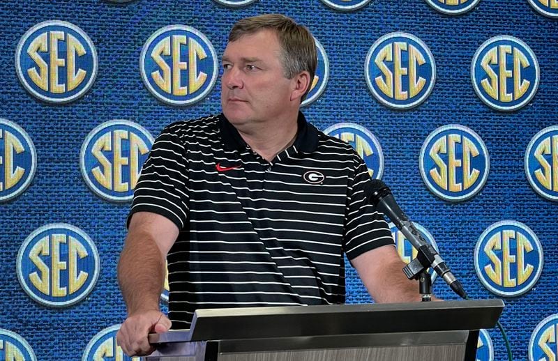
[[[246,144],[268,162],[292,146],[298,130],[298,113],[276,124],[259,123],[251,129],[237,128]]]

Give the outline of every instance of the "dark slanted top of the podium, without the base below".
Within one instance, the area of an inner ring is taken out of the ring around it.
[[[197,309],[190,330],[151,334],[149,341],[479,330],[493,328],[503,309],[502,300]]]

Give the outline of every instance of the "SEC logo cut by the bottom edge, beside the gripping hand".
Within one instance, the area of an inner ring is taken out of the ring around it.
[[[116,332],[120,325],[113,325],[93,336],[87,344],[82,355],[82,361],[140,361],[141,358],[123,353],[122,348],[116,344]]]

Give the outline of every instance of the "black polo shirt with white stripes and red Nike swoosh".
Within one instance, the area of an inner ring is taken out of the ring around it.
[[[272,162],[223,114],[168,125],[153,144],[130,216],[158,213],[180,229],[167,256],[174,329],[197,308],[343,303],[343,252],[393,245],[359,155],[298,122]]]

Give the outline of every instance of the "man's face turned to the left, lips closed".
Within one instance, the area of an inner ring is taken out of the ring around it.
[[[299,105],[299,99],[291,100],[295,84],[284,75],[281,47],[273,31],[258,31],[227,45],[221,107],[234,125],[278,118]]]

